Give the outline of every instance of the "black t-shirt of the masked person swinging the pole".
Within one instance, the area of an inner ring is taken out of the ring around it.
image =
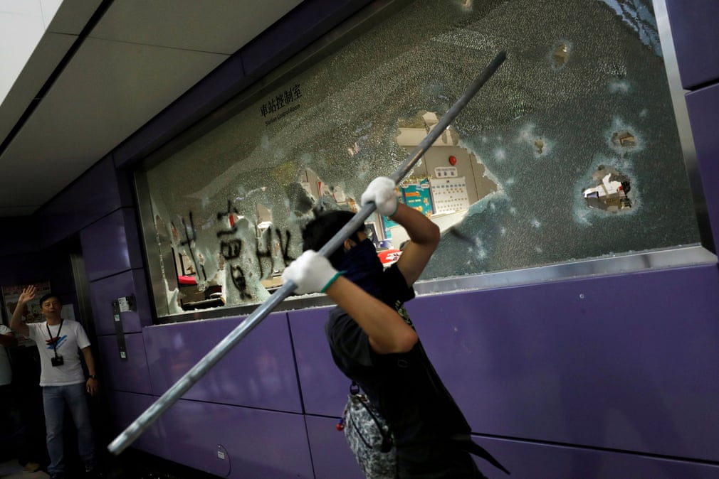
[[[414,297],[414,292],[407,287],[396,265],[383,272],[381,282],[380,300],[395,308],[414,327],[402,306]],[[457,451],[461,457],[452,457],[457,442],[450,439],[466,437],[470,426],[420,342],[408,353],[377,354],[370,348],[367,334],[339,307],[329,313],[325,332],[340,371],[362,387],[388,420],[395,436],[400,472],[403,464],[422,472],[400,477],[475,477],[469,471],[476,470],[469,454]],[[451,464],[438,463],[444,460]],[[469,460],[466,476],[441,472],[456,467],[457,460],[462,463]]]

